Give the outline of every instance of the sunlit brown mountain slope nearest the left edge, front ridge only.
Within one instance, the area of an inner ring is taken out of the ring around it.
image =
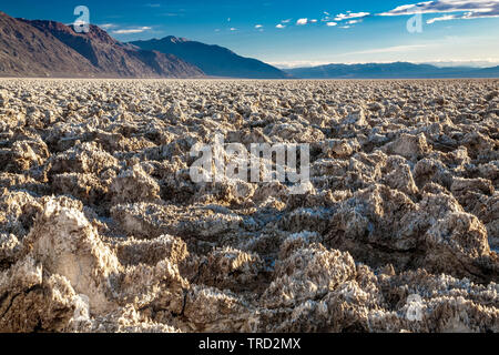
[[[99,70],[52,34],[0,12],[0,75],[64,75],[78,69],[78,77]]]

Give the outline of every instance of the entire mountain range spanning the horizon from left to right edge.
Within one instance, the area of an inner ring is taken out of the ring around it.
[[[419,79],[499,78],[499,67],[439,68],[406,62],[328,64],[281,70],[233,51],[184,38],[123,43],[96,26],[77,33],[55,21],[14,19],[0,11],[0,77]]]

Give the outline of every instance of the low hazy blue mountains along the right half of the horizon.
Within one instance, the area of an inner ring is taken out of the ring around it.
[[[430,64],[368,63],[329,64],[286,70],[301,79],[442,79],[442,78],[499,78],[499,67],[477,69],[468,67],[438,68]]]

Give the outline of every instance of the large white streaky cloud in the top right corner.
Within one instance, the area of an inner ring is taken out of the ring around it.
[[[458,13],[460,12],[460,13]],[[448,21],[499,17],[499,0],[436,0],[404,4],[379,16],[405,16],[416,13],[458,13],[442,16],[427,21]]]

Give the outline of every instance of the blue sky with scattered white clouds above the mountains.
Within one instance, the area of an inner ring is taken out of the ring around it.
[[[0,0],[10,16],[68,24],[78,6],[121,41],[183,37],[279,68],[499,65],[499,0]]]

